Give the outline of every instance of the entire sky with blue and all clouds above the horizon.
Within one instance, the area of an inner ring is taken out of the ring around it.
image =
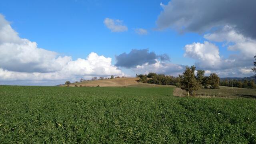
[[[254,73],[256,1],[1,0],[0,84]]]

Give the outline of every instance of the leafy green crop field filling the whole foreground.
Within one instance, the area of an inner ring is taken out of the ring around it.
[[[173,87],[0,86],[0,143],[256,143],[256,100]]]

